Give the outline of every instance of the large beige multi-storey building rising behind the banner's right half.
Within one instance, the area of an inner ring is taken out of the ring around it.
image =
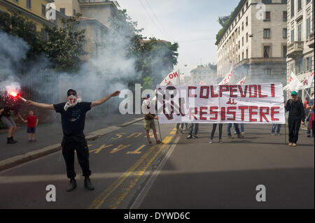
[[[287,1],[241,0],[218,36],[218,78],[286,85]]]

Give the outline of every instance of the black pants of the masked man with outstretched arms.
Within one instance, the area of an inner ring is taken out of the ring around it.
[[[78,136],[64,136],[62,139],[62,154],[64,155],[64,161],[66,161],[66,175],[70,179],[76,177],[76,172],[74,171],[74,150],[76,150],[78,163],[82,168],[83,175],[85,177],[90,176],[90,153],[83,134]]]

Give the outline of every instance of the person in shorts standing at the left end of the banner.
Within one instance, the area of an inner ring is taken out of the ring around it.
[[[153,145],[150,138],[150,129],[153,130],[155,143],[156,144],[161,143],[161,141],[158,140],[158,134],[156,133],[154,122],[154,120],[158,120],[158,117],[150,113],[151,110],[150,94],[148,94],[146,96],[146,99],[144,99],[144,102],[142,103],[142,110],[144,111],[144,129],[146,129],[146,138],[148,139],[148,144]]]

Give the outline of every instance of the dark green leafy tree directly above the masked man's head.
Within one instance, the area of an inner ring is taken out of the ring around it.
[[[76,72],[80,65],[80,56],[86,55],[84,50],[85,29],[76,30],[80,14],[62,19],[64,28],[45,27],[48,41],[45,41],[45,55],[51,59],[52,69],[57,71]]]

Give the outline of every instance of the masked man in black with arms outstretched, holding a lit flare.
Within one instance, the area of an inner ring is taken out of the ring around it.
[[[89,190],[94,190],[90,180],[90,163],[89,150],[85,135],[83,134],[85,126],[85,114],[94,106],[100,106],[102,103],[108,101],[113,96],[118,96],[120,92],[116,91],[108,96],[93,102],[78,102],[78,95],[73,89],[67,92],[67,102],[55,105],[45,103],[37,103],[35,101],[26,101],[38,108],[55,110],[61,114],[62,117],[62,131],[64,137],[62,139],[62,154],[66,162],[66,174],[70,179],[70,185],[66,188],[67,192],[76,189],[76,172],[74,171],[74,150],[78,156],[78,163],[82,168],[85,177],[84,187]]]

